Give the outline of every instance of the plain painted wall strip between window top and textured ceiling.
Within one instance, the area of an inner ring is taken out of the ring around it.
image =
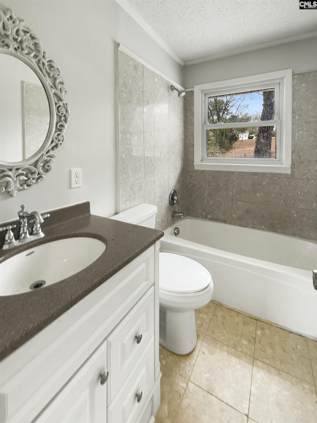
[[[274,70],[293,69],[293,73],[317,69],[317,38],[280,44],[184,67],[183,84],[223,81]]]

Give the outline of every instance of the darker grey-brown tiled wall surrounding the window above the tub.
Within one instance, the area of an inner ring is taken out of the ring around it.
[[[290,175],[194,170],[194,99],[185,97],[185,212],[317,239],[317,71],[293,75]]]

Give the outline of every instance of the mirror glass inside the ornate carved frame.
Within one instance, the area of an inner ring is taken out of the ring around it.
[[[49,102],[36,73],[18,58],[0,54],[0,161],[34,155],[49,125]]]

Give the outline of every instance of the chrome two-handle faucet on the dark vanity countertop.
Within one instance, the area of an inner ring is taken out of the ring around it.
[[[31,235],[28,228],[28,218],[32,217],[30,223],[33,223],[31,230]],[[49,217],[50,214],[39,213],[38,211],[31,211],[30,213],[26,210],[24,204],[21,205],[21,210],[18,211],[19,217],[19,229],[18,229],[18,238],[14,239],[12,228],[15,228],[16,225],[7,225],[0,227],[0,231],[5,231],[2,250],[7,250],[9,248],[17,247],[20,244],[25,244],[26,242],[33,241],[37,238],[43,238],[44,233],[41,228],[41,224],[44,222],[44,219]]]

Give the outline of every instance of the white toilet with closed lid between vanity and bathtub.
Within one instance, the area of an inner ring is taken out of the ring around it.
[[[140,204],[112,219],[154,228],[158,209]],[[175,354],[196,345],[194,310],[211,301],[211,274],[201,264],[179,254],[159,253],[159,343]]]

